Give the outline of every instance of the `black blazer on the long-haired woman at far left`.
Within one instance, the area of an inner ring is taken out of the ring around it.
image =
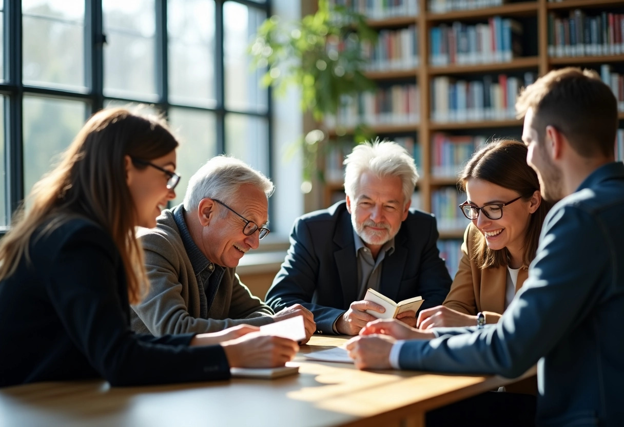
[[[75,218],[31,239],[0,282],[0,386],[104,377],[112,385],[228,378],[221,346],[130,331],[125,270],[109,234]]]

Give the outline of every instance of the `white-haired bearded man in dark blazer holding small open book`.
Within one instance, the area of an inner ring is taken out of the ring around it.
[[[428,308],[444,301],[451,277],[436,247],[436,218],[409,210],[418,174],[407,151],[368,142],[344,163],[346,200],[295,221],[266,302],[308,308],[317,333],[356,335],[375,319],[365,310],[383,310],[363,300],[368,288],[394,301],[421,296]],[[416,325],[414,312],[399,317]]]

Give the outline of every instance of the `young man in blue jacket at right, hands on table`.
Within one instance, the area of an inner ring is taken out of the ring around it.
[[[595,72],[567,68],[527,87],[516,107],[542,194],[561,199],[545,219],[522,290],[496,325],[416,331],[376,322],[349,342],[349,354],[359,368],[508,377],[537,363],[538,425],[620,426],[624,164],[614,161],[617,101]],[[411,338],[421,339],[403,341]]]

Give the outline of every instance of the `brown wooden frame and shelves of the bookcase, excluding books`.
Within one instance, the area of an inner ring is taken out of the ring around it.
[[[532,72],[535,76],[542,76],[552,69],[564,66],[591,67],[600,72],[602,64],[612,65],[615,71],[620,73],[624,70],[624,53],[618,55],[570,57],[550,57],[548,54],[548,14],[554,13],[556,16],[565,17],[568,16],[570,11],[577,8],[587,9],[588,16],[595,16],[603,11],[622,13],[624,11],[623,0],[564,0],[562,2],[508,0],[502,6],[444,13],[429,11],[428,0],[418,0],[418,2],[418,16],[371,20],[369,24],[377,30],[399,30],[414,25],[418,43],[417,63],[419,66],[399,70],[388,68],[384,71],[369,71],[366,75],[381,84],[392,85],[404,82],[413,84],[413,82],[416,82],[418,86],[420,116],[417,123],[371,125],[369,129],[373,130],[374,134],[379,135],[381,138],[389,137],[392,139],[404,135],[414,137],[414,142],[416,142],[419,149],[417,167],[421,175],[416,197],[419,197],[421,200],[421,209],[428,212],[432,211],[434,199],[439,197],[439,192],[445,189],[453,189],[453,187],[456,188],[454,176],[440,177],[432,172],[434,170],[433,157],[436,153],[433,142],[434,135],[438,133],[459,137],[462,135],[482,135],[491,138],[492,136],[504,136],[508,130],[510,135],[519,136],[522,134],[522,120],[513,118],[463,122],[437,122],[433,120],[431,110],[432,102],[434,101],[434,96],[432,96],[432,87],[434,86],[432,82],[434,79],[449,77],[450,81],[470,82],[475,81],[475,79],[481,79],[483,76],[497,78],[498,74],[524,77],[525,72]],[[528,49],[525,46],[525,54],[527,56],[514,57],[509,62],[488,64],[452,64],[447,66],[434,66],[431,64],[430,34],[432,28],[439,27],[441,24],[451,27],[452,22],[455,21],[465,23],[467,26],[486,24],[491,17],[495,16],[500,16],[503,19],[510,17],[524,25],[524,35],[522,37],[527,38],[523,39],[523,41],[525,44],[530,44]],[[507,114],[505,117],[512,116],[513,114]],[[620,120],[624,120],[624,112],[621,112],[619,117]],[[330,130],[328,133],[330,138],[336,137],[335,130]],[[352,133],[353,129],[343,129],[339,132],[339,135]],[[332,197],[335,199],[337,192],[343,192],[344,190],[342,182],[324,183],[323,189],[323,201],[317,206],[318,208],[327,207],[329,200],[332,200]],[[460,203],[461,201],[457,204]],[[457,214],[459,214],[459,209],[457,209]],[[441,228],[441,239],[461,239],[464,230],[456,230],[454,228],[456,227],[452,225]]]

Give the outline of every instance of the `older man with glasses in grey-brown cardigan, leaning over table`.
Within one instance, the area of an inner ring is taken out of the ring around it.
[[[204,333],[303,315],[309,339],[315,330],[309,310],[295,304],[275,313],[236,275],[240,258],[269,232],[273,190],[271,180],[240,160],[208,160],[191,177],[183,203],[163,210],[156,228],[137,233],[151,288],[132,307],[132,329]]]

